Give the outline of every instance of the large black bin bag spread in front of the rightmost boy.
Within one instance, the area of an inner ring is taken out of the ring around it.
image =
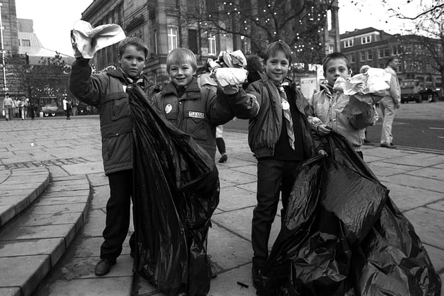
[[[295,176],[259,295],[441,295],[413,226],[339,134]]]

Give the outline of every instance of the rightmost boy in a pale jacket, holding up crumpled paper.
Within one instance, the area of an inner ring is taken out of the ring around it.
[[[314,116],[322,121],[315,123],[314,128],[320,136],[330,134],[332,131],[343,135],[356,153],[364,159],[361,146],[365,139],[365,128],[361,128],[361,126],[365,123],[371,125],[377,121],[375,107],[366,105],[367,109],[357,115],[335,111],[334,105],[340,99],[340,96],[344,95],[343,92],[336,91],[333,88],[334,82],[338,78],[347,80],[351,76],[350,60],[343,53],[330,53],[323,60],[323,70],[327,84],[321,85],[321,91],[309,99]]]

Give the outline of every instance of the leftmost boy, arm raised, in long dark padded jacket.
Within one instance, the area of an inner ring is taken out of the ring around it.
[[[89,60],[76,54],[69,77],[69,90],[78,100],[99,108],[102,157],[110,184],[106,204],[100,261],[96,275],[106,275],[121,254],[130,225],[133,195],[133,119],[126,88],[137,84],[148,94],[153,84],[142,73],[148,48],[139,38],[126,37],[119,43],[117,69],[93,74]],[[151,94],[148,94],[151,95]],[[133,237],[132,237],[133,238]],[[132,239],[130,239],[131,245]]]

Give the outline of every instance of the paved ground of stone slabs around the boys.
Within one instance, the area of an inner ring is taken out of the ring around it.
[[[36,294],[162,295],[143,279],[133,279],[128,241],[112,272],[106,277],[94,276],[109,196],[101,162],[98,117],[1,121],[0,126],[0,173],[44,166],[55,180],[86,175],[93,189],[85,225]],[[230,131],[224,134],[229,158],[227,163],[218,164],[221,202],[212,219],[214,227],[208,243],[219,276],[212,280],[209,295],[255,295],[250,279],[250,220],[255,206],[256,162],[246,136]],[[415,227],[444,279],[444,155],[377,146],[364,146],[364,155]],[[279,223],[280,219],[276,220]],[[270,245],[277,234],[275,223]],[[237,281],[248,288],[239,286]]]

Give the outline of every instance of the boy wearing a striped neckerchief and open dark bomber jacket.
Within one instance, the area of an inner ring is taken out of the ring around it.
[[[308,121],[311,109],[296,85],[286,78],[290,64],[291,49],[287,44],[269,44],[264,56],[266,76],[236,94],[250,96],[259,104],[259,112],[250,110],[242,117],[238,115],[250,119],[248,144],[257,158],[257,206],[251,233],[253,284],[257,290],[263,286],[261,270],[268,259],[268,238],[280,193],[283,215],[299,164],[316,154]]]

